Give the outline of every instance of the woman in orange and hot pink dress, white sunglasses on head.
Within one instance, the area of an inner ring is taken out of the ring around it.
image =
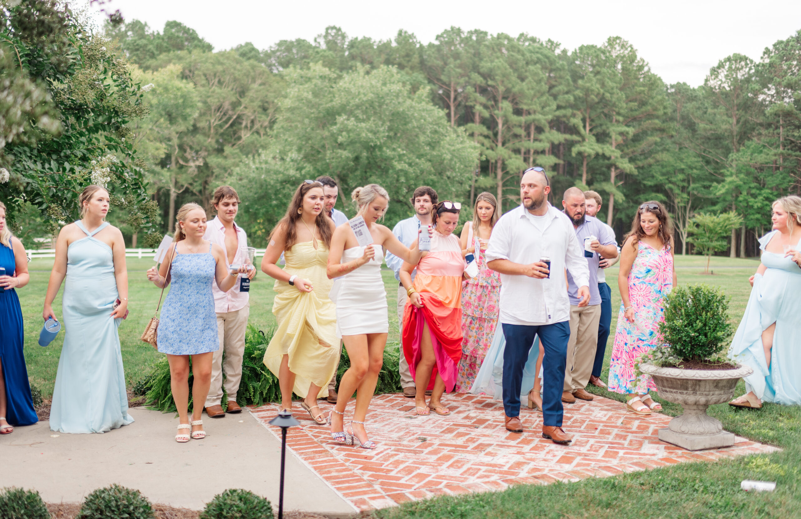
[[[400,268],[400,282],[409,293],[403,318],[404,355],[417,388],[433,389],[429,404],[425,391],[417,391],[415,407],[421,415],[431,409],[450,414],[442,405],[442,393],[453,391],[461,360],[461,281],[467,264],[459,238],[453,235],[459,210],[461,204],[449,200],[433,206],[430,250],[417,264],[404,261]]]

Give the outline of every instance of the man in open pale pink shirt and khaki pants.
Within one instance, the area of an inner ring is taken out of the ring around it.
[[[239,211],[239,195],[231,186],[218,187],[212,198],[217,216],[208,222],[203,239],[216,243],[225,250],[228,265],[244,263],[242,248],[248,246],[248,237],[234,222]],[[248,327],[250,305],[248,291],[250,280],[256,275],[252,269],[248,276],[239,274],[234,288],[223,292],[216,284],[211,285],[217,313],[217,336],[219,349],[214,352],[211,364],[211,387],[206,398],[206,414],[211,418],[222,418],[223,411],[223,370],[225,371],[225,390],[228,393],[227,413],[239,413],[242,409],[236,403],[236,392],[242,379],[242,357],[245,350],[245,329]],[[225,365],[223,365],[223,351]]]

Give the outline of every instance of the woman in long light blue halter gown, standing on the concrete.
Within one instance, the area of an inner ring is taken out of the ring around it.
[[[50,430],[107,433],[128,425],[123,357],[117,327],[127,315],[123,234],[103,222],[107,190],[89,186],[78,198],[81,220],[58,233],[42,317],[56,319],[53,300],[64,283],[64,345],[50,406]],[[119,300],[119,305],[115,302]]]

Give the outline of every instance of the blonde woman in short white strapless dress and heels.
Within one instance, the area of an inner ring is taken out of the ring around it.
[[[328,414],[328,423],[335,441],[352,445],[355,440],[363,449],[375,449],[375,442],[367,439],[364,417],[376,390],[389,329],[387,293],[381,279],[382,247],[410,263],[420,261],[421,253],[417,242],[410,250],[391,230],[377,223],[389,205],[389,195],[383,187],[357,187],[351,196],[359,207],[356,218],[364,218],[372,245],[359,246],[349,223],[337,227],[331,239],[328,277],[338,278],[331,290],[331,299],[336,303],[336,332],[348,350],[351,366],[342,376],[340,397]],[[344,411],[354,391],[356,408],[345,432]]]

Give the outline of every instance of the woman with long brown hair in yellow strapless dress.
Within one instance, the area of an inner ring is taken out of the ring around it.
[[[280,382],[281,407],[292,410],[292,392],[320,425],[325,418],[317,397],[328,393],[328,381],[340,361],[336,306],[328,297],[328,249],[334,222],[323,212],[323,185],[304,181],[295,191],[286,216],[272,231],[261,269],[275,277],[272,313],[278,329],[264,353],[264,365]],[[286,267],[276,265],[284,253]]]

